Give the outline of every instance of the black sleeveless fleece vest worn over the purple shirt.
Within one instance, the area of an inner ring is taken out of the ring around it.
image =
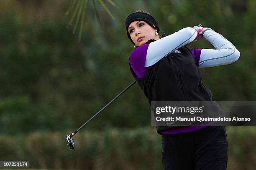
[[[191,51],[187,47],[180,47],[177,51],[156,62],[141,78],[136,76],[129,64],[149,104],[151,101],[214,101],[211,91],[202,83],[201,72]],[[177,126],[156,126],[159,134],[171,128]]]

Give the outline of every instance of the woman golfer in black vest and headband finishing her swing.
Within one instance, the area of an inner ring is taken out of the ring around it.
[[[199,68],[231,64],[240,52],[207,27],[183,28],[159,37],[156,20],[137,11],[125,21],[134,44],[129,65],[138,85],[151,101],[213,101],[202,84]],[[201,37],[215,49],[186,47]],[[226,170],[228,141],[225,126],[157,126],[162,138],[164,170]]]

